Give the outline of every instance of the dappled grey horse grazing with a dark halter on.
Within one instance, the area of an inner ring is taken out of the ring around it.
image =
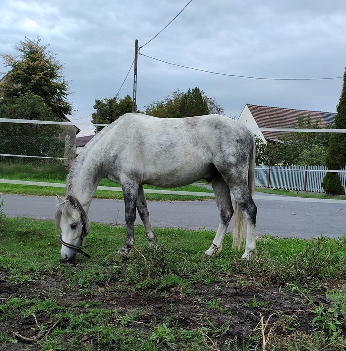
[[[56,224],[61,228],[61,258],[74,260],[82,251],[90,224],[88,210],[102,178],[121,184],[125,202],[126,241],[120,254],[128,256],[134,246],[136,209],[149,243],[155,233],[143,184],[178,187],[205,179],[212,182],[220,224],[208,256],[219,255],[235,206],[233,247],[240,249],[246,232],[242,258],[256,255],[257,208],[252,199],[255,142],[241,123],[221,115],[188,118],[156,118],[127,113],[84,147],[66,180],[66,195],[58,197]],[[85,254],[87,255],[87,254]],[[88,256],[88,255],[87,255]]]

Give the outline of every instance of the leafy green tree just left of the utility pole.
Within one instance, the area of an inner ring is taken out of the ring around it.
[[[109,99],[95,100],[94,109],[98,111],[100,124],[111,124],[125,113],[132,112],[133,100],[130,95],[118,101],[117,97]],[[97,121],[97,111],[92,114],[92,123]],[[102,126],[98,128],[100,131]]]

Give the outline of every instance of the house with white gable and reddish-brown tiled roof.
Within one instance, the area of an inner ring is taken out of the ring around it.
[[[321,128],[333,123],[336,113],[295,110],[291,108],[268,107],[246,104],[238,121],[252,128],[296,128],[298,117],[310,117],[311,123],[319,122]],[[278,142],[278,137],[285,132],[255,131],[264,142]]]

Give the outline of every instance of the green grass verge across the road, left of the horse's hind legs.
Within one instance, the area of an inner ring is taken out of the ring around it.
[[[15,164],[0,164],[0,174],[1,174],[1,178],[5,178],[5,179],[50,182],[50,183],[65,183],[67,170],[58,164],[32,165],[32,164],[15,163]],[[119,184],[113,183],[108,179],[103,179],[99,185],[106,186],[106,187],[120,187]],[[144,185],[144,188],[212,193],[212,191],[209,189],[206,189],[200,186],[195,186],[195,185],[188,185],[188,186],[176,187],[176,188],[159,188],[155,186]],[[65,189],[60,187],[43,187],[43,186],[0,183],[0,193],[43,195],[43,196],[54,196],[58,194],[60,196],[63,196],[65,194]],[[95,192],[94,197],[99,199],[123,199],[123,194],[122,192],[116,192],[116,191],[97,190]],[[189,196],[189,195],[147,193],[146,198],[148,200],[184,201],[184,200],[206,200],[206,199],[211,199],[213,197],[209,198],[209,197],[202,197],[202,196],[199,197],[199,196]]]

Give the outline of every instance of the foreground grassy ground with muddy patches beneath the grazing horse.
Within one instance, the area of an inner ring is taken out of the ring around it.
[[[52,221],[3,218],[1,342],[47,351],[346,347],[346,238],[264,236],[259,256],[243,261],[230,235],[209,258],[212,231],[156,228],[158,245],[149,247],[137,226],[136,247],[122,261],[125,231],[92,223],[84,247],[91,258],[71,265],[59,262]],[[29,343],[12,333],[41,329]]]

